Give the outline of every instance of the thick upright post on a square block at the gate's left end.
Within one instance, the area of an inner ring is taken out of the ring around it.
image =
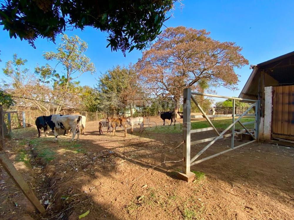
[[[190,131],[191,131],[191,89],[184,89],[183,96],[183,172],[178,173],[178,177],[187,182],[191,182],[195,174],[190,171]]]

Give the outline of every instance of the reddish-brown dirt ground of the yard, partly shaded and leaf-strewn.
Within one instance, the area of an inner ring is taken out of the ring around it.
[[[192,166],[195,181],[179,180],[183,145],[176,126],[159,118],[151,128],[123,137],[99,135],[88,122],[80,141],[37,137],[35,128],[19,129],[6,152],[36,193],[40,215],[1,168],[0,219],[294,219],[294,148],[253,143]],[[104,129],[105,130],[105,129]],[[42,134],[42,133],[41,133]],[[60,132],[61,134],[61,132]],[[213,131],[191,139],[215,136]],[[201,158],[230,148],[217,141]],[[235,145],[244,142],[235,141]],[[204,144],[191,147],[196,155]],[[163,163],[165,162],[166,163]],[[167,162],[173,161],[173,162]],[[179,161],[179,162],[174,162]]]

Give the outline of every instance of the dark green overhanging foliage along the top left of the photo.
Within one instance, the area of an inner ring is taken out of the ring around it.
[[[108,32],[111,50],[125,53],[142,49],[156,38],[175,1],[11,0],[1,4],[0,25],[9,31],[10,38],[25,39],[32,46],[39,36],[55,41],[66,28],[91,26]]]

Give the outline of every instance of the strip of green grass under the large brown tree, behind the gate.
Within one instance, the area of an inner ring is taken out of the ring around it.
[[[241,122],[249,122],[249,121],[254,121],[254,117],[245,117],[241,119]],[[220,119],[220,120],[212,121],[212,123],[216,128],[220,128],[224,130],[232,123],[232,119]],[[208,127],[211,127],[211,126],[206,120],[191,122],[191,129],[208,128]],[[254,128],[254,124],[248,124],[246,125],[246,128],[248,129]],[[235,129],[243,129],[243,127],[239,123],[236,123]],[[181,133],[183,130],[182,130],[182,124],[177,123],[175,126],[162,125],[162,126],[146,127],[146,131],[151,133]]]

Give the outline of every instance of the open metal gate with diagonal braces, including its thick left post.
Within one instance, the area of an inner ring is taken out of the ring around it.
[[[218,97],[218,98],[224,98],[224,99],[232,99],[232,101],[233,101],[233,113],[235,113],[235,100],[240,100],[240,101],[242,100],[242,101],[250,102],[250,103],[253,103],[253,104],[243,114],[206,115],[205,112],[203,111],[203,109],[201,108],[201,106],[196,101],[196,99],[193,97],[193,95],[202,95],[202,96],[208,96],[208,97]],[[211,125],[211,127],[209,127],[209,128],[199,128],[199,129],[191,130],[191,99],[196,104],[196,106],[201,111],[201,113],[203,114],[203,115],[193,116],[193,118],[205,117],[206,120],[208,121],[208,123]],[[234,149],[243,147],[243,146],[245,146],[247,144],[258,141],[259,116],[260,116],[260,101],[259,100],[240,99],[240,98],[235,98],[235,97],[227,97],[227,96],[219,96],[219,95],[205,94],[205,93],[199,93],[199,92],[191,92],[191,89],[189,89],[189,88],[184,89],[183,100],[184,100],[184,102],[183,102],[183,140],[184,140],[183,173],[185,175],[190,175],[191,174],[190,167],[193,166],[193,165],[196,165],[198,163],[201,163],[201,162],[203,162],[205,160],[214,158],[214,157],[216,157],[218,155],[221,155],[223,153],[227,153],[227,152],[229,152],[231,150],[234,150]],[[247,114],[248,111],[250,109],[252,109],[254,106],[255,106],[255,114]],[[235,116],[239,116],[239,117],[237,119],[235,119]],[[242,123],[240,121],[240,119],[243,116],[255,116],[255,121]],[[227,128],[225,128],[225,130],[223,130],[221,133],[219,133],[217,131],[217,129],[215,128],[215,126],[213,126],[213,124],[209,120],[209,118],[214,118],[214,117],[232,117],[233,121]],[[244,130],[235,132],[235,124],[236,123],[239,123],[244,128]],[[245,127],[246,124],[250,124],[250,123],[255,123],[254,129],[247,129]],[[225,134],[225,132],[227,132],[230,128],[232,128],[232,133]],[[216,132],[217,136],[212,137],[212,138],[206,138],[206,139],[191,142],[191,133],[198,133],[198,132],[209,131],[209,130],[214,130]],[[247,143],[243,143],[241,145],[238,145],[238,146],[234,147],[234,136],[236,134],[241,134],[241,133],[249,133],[250,136],[253,138],[253,141],[249,141]],[[252,133],[254,133],[254,135]],[[230,149],[222,151],[222,152],[214,154],[214,155],[211,155],[209,157],[203,158],[201,160],[196,160],[205,150],[207,150],[218,139],[225,138],[225,137],[230,137],[230,136],[232,136],[231,148]],[[190,155],[190,147],[191,147],[191,145],[195,145],[195,144],[198,144],[198,143],[204,143],[204,142],[208,142],[208,141],[211,141],[211,142],[208,143],[199,153],[197,153],[191,159],[190,158],[190,156],[191,156]]]

